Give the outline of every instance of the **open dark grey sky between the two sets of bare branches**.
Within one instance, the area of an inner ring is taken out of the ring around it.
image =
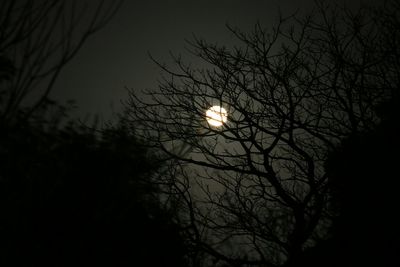
[[[346,1],[355,3],[358,0]],[[229,44],[234,38],[226,23],[246,30],[260,21],[268,28],[276,22],[279,8],[289,15],[296,10],[309,12],[312,7],[313,0],[125,1],[114,19],[66,66],[53,97],[74,99],[78,106],[74,117],[98,114],[103,120],[110,119],[127,97],[125,87],[140,91],[157,86],[160,70],[148,52],[168,61],[169,51],[184,52],[184,40],[193,34]]]

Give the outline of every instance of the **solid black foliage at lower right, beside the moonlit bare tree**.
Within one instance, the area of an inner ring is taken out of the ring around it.
[[[398,266],[399,101],[378,109],[374,131],[346,139],[327,161],[337,214],[331,238],[295,266]]]

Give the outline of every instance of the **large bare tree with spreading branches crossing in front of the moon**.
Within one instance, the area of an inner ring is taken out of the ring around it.
[[[137,134],[171,162],[160,176],[193,252],[215,266],[279,266],[326,238],[327,154],[376,126],[400,81],[396,1],[357,11],[316,3],[272,30],[228,27],[238,45],[194,38],[160,86],[131,91]],[[143,95],[144,94],[144,95]],[[207,122],[211,106],[226,122]],[[207,257],[205,257],[205,255]]]

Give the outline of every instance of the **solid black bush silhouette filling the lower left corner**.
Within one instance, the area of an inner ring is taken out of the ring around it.
[[[2,266],[183,266],[159,163],[127,128],[42,126],[1,131]]]

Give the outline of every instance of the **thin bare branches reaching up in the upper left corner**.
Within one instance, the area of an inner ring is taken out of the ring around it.
[[[0,116],[41,107],[65,65],[122,2],[4,0],[0,3]],[[25,103],[24,103],[25,101]],[[26,103],[28,101],[29,103]]]

